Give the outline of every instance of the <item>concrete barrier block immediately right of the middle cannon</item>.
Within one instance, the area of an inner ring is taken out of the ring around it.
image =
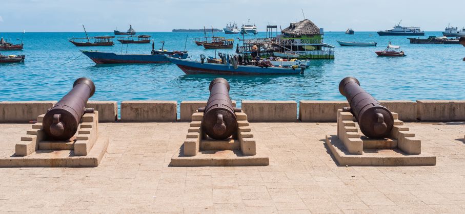
[[[242,101],[249,122],[296,122],[295,101]]]

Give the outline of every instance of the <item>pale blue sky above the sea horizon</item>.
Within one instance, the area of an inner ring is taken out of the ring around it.
[[[403,26],[443,31],[450,23],[465,26],[464,0],[15,0],[0,1],[0,32],[126,31],[239,27],[250,18],[259,31],[270,25],[289,26],[305,17],[325,31],[386,30]],[[441,4],[444,3],[444,4]]]

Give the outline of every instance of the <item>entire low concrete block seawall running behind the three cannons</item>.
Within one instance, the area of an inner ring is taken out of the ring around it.
[[[380,101],[399,114],[401,121],[465,121],[465,101],[417,100]],[[56,101],[0,102],[0,123],[28,123],[47,112]],[[122,122],[189,122],[192,113],[207,101],[123,101]],[[234,106],[236,102],[233,101]],[[347,101],[251,101],[241,102],[250,122],[336,122],[337,109],[348,106]],[[115,122],[117,102],[89,101],[87,107],[99,112],[100,122]],[[180,120],[177,112],[180,112]],[[298,115],[297,115],[298,110]]]

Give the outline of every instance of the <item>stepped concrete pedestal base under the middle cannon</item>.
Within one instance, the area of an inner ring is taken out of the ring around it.
[[[269,165],[269,157],[260,153],[245,113],[236,113],[237,131],[227,140],[214,140],[203,131],[204,113],[192,114],[192,123],[183,146],[171,158],[171,167],[232,167]]]

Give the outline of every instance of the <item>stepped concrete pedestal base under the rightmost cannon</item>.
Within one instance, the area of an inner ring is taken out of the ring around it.
[[[340,165],[402,166],[436,165],[436,157],[421,154],[421,141],[394,116],[394,127],[386,139],[370,139],[358,130],[350,112],[337,112],[337,136],[326,136],[326,144]]]

